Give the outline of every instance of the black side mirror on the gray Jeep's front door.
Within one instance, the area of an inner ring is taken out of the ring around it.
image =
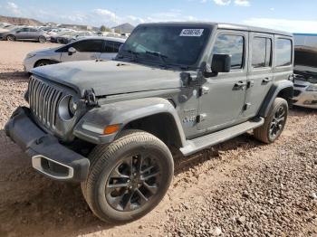
[[[211,67],[205,63],[203,73],[206,78],[216,77],[219,72],[229,72],[231,70],[231,55],[214,54]]]

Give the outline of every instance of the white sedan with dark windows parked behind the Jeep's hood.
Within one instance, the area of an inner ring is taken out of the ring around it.
[[[91,37],[62,47],[30,52],[24,59],[24,69],[29,72],[35,67],[58,62],[111,60],[124,42],[124,39],[118,38]]]

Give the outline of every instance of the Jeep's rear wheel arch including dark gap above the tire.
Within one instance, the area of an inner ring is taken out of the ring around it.
[[[259,116],[266,117],[276,97],[283,98],[289,104],[293,100],[293,82],[292,81],[276,81],[267,93],[264,102],[259,110]]]

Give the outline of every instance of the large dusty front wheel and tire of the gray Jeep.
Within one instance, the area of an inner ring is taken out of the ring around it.
[[[109,145],[95,147],[82,194],[106,223],[128,223],[149,213],[168,191],[173,157],[158,137],[126,130]]]

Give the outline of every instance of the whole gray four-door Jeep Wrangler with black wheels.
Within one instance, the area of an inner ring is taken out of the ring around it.
[[[6,134],[32,166],[82,183],[101,220],[149,213],[189,156],[254,130],[272,143],[293,98],[293,35],[234,24],[140,24],[114,61],[32,71]]]

